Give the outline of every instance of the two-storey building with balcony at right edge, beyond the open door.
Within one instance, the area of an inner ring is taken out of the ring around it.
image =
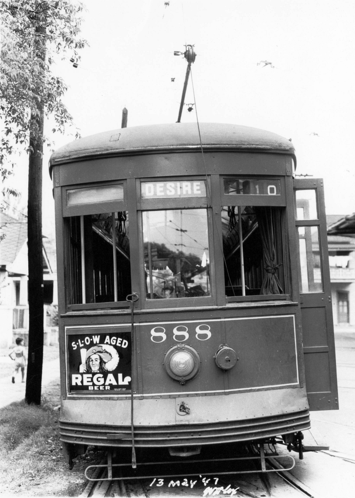
[[[335,325],[355,325],[355,213],[327,216]]]

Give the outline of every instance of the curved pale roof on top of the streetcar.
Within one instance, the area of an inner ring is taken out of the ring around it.
[[[204,149],[264,150],[294,155],[292,142],[282,136],[238,124],[200,123]],[[196,123],[150,124],[104,131],[80,138],[56,150],[50,168],[73,159],[125,155],[140,151],[198,150]]]

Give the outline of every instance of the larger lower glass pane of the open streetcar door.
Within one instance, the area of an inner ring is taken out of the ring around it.
[[[323,292],[318,227],[298,227],[300,292]]]

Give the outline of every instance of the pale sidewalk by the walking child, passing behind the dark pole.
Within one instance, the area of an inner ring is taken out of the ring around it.
[[[11,361],[8,359],[9,362]],[[59,378],[59,358],[43,364],[42,372],[42,387],[49,384],[52,380]],[[25,371],[26,379],[26,371]],[[26,383],[21,382],[21,373],[16,375],[16,381],[11,382],[11,375],[0,379],[0,408],[6,406],[13,401],[21,401],[25,397]]]

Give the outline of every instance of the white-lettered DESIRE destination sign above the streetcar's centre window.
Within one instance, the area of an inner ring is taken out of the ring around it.
[[[204,180],[142,182],[141,197],[142,199],[206,197],[206,184]]]

